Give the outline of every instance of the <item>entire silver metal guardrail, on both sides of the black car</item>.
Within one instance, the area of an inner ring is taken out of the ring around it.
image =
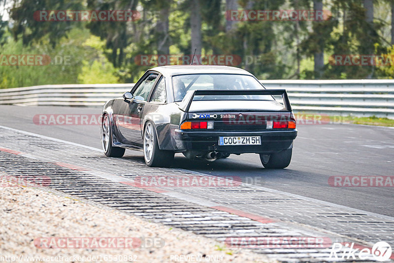
[[[297,112],[394,118],[394,80],[262,80],[286,89]],[[0,89],[0,104],[101,106],[134,84],[67,84]]]

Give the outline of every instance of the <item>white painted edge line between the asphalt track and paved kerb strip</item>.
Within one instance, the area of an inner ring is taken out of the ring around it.
[[[14,131],[14,132],[20,132],[20,133],[31,135],[31,136],[36,136],[36,137],[39,137],[39,138],[44,138],[44,139],[48,139],[48,140],[62,142],[62,143],[66,143],[66,144],[77,146],[77,147],[83,147],[83,148],[90,149],[90,150],[93,150],[93,151],[103,152],[99,148],[94,148],[94,147],[90,147],[90,146],[86,146],[86,145],[82,145],[82,144],[74,143],[74,142],[70,142],[70,141],[65,141],[65,140],[61,140],[61,139],[57,139],[57,138],[53,138],[53,137],[48,137],[48,136],[44,136],[44,135],[33,133],[33,132],[25,132],[25,131],[22,131],[22,130],[17,130],[17,129],[5,127],[5,126],[0,126],[0,128],[6,129],[6,130],[10,130],[10,131]],[[194,173],[194,174],[202,175],[202,176],[217,177],[215,175],[210,175],[210,174],[201,173],[201,172],[192,171],[192,170],[187,170],[187,169],[181,169],[181,168],[173,168],[173,169],[174,170],[178,170],[178,171],[190,172],[190,173]],[[100,176],[100,177],[102,177],[102,176]],[[368,211],[360,210],[360,209],[357,209],[357,208],[348,207],[348,206],[340,205],[340,204],[335,204],[335,203],[331,203],[331,202],[327,202],[327,201],[323,201],[323,200],[319,200],[319,199],[315,199],[315,198],[299,196],[299,195],[291,194],[291,193],[288,193],[288,192],[283,192],[283,191],[270,189],[270,188],[266,188],[266,187],[262,187],[262,186],[256,186],[256,185],[251,185],[251,184],[247,184],[247,183],[242,183],[242,184],[245,185],[245,186],[251,186],[251,187],[254,187],[254,188],[257,188],[257,189],[260,189],[260,190],[264,190],[264,191],[267,191],[267,192],[271,192],[271,193],[285,194],[285,195],[290,196],[290,197],[304,199],[304,200],[307,200],[307,201],[312,201],[312,202],[320,203],[320,204],[323,204],[323,205],[329,205],[329,206],[333,206],[333,207],[336,207],[336,208],[339,208],[339,209],[349,209],[349,210],[352,210],[352,211],[357,212],[357,213],[366,214],[368,216],[375,216],[375,217],[380,217],[380,218],[383,218],[383,219],[386,219],[386,220],[394,221],[394,217],[391,217],[391,216],[386,216],[386,215],[381,215],[381,214],[377,214],[377,213],[373,213],[373,212],[368,212]],[[201,205],[203,205],[203,204],[201,204]]]

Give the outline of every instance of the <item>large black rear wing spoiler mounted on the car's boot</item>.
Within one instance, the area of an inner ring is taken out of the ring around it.
[[[186,93],[185,98],[179,104],[179,109],[189,112],[190,105],[195,96],[218,96],[218,95],[277,95],[283,99],[283,105],[288,111],[292,111],[286,90],[195,90]]]

